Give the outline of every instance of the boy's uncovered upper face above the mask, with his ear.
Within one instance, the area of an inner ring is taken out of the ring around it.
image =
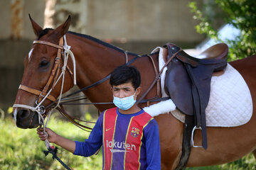
[[[136,96],[139,95],[141,89],[141,87],[137,88],[136,94],[134,95],[134,100],[136,99]],[[129,97],[135,93],[135,89],[132,86],[132,82],[120,84],[118,86],[112,86],[111,91],[113,93],[113,96],[118,98]]]

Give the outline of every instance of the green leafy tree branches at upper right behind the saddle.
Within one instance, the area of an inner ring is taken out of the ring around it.
[[[210,2],[210,1],[209,1]],[[207,4],[202,10],[198,9],[196,2],[189,3],[193,18],[199,21],[196,26],[198,33],[205,33],[208,38],[225,42],[229,46],[228,60],[237,60],[256,54],[256,1],[255,0],[215,0]],[[213,8],[217,6],[218,12],[241,32],[234,40],[222,40],[214,28]],[[210,10],[209,10],[210,9]]]

